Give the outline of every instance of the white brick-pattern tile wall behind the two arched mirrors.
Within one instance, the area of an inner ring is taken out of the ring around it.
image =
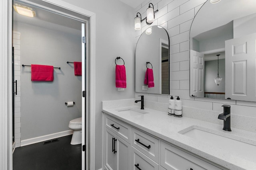
[[[170,36],[170,95],[180,96],[183,106],[223,111],[222,104],[230,104],[232,114],[246,115],[256,120],[256,102],[222,100],[210,98],[193,98],[189,92],[189,30],[192,20],[206,0],[145,0],[135,9],[146,17],[148,4],[152,3],[156,20],[152,25],[161,25]],[[141,33],[152,26],[142,22],[142,29],[136,31],[135,45]],[[169,95],[135,93],[135,98],[143,94],[145,100],[168,103]],[[217,119],[217,118],[216,118]]]

